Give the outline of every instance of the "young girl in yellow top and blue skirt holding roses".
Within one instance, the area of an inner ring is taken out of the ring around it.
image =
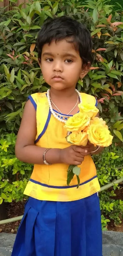
[[[96,168],[90,154],[102,148],[67,143],[66,120],[82,101],[95,97],[75,90],[92,63],[89,31],[63,16],[42,26],[38,60],[50,89],[29,96],[16,141],[16,156],[34,164],[12,256],[102,256]],[[67,186],[69,164],[81,167],[80,186]]]

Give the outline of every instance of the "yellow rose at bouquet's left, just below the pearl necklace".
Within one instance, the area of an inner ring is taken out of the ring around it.
[[[67,122],[65,123],[65,128],[67,131],[82,131],[84,130],[90,123],[90,117],[87,114],[77,113],[71,116]]]

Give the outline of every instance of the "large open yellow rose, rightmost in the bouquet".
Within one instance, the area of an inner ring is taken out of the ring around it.
[[[113,136],[110,135],[107,125],[91,124],[87,134],[88,140],[95,146],[108,147],[112,143]]]

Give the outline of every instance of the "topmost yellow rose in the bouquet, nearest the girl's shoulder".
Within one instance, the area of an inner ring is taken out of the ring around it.
[[[81,113],[84,114],[88,114],[90,118],[93,118],[97,115],[97,113],[99,112],[99,109],[96,108],[96,106],[94,104],[92,104],[91,102],[82,102],[80,104],[78,104],[79,110]]]

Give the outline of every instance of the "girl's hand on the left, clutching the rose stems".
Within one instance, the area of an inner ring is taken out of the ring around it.
[[[60,150],[60,163],[80,165],[84,160],[83,148],[71,145]]]

